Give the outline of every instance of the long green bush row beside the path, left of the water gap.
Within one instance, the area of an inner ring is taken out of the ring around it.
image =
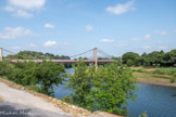
[[[64,81],[65,70],[63,65],[43,61],[41,64],[24,62],[11,64],[0,62],[0,76],[9,80],[28,87],[48,95],[53,95],[53,84]]]

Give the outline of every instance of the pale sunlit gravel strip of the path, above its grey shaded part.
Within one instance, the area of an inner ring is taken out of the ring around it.
[[[40,98],[35,96],[25,91],[12,89],[2,82],[0,82],[0,96],[3,99],[3,101],[8,103],[8,105],[12,104],[13,106],[15,106],[15,104],[18,104],[18,105],[30,107],[33,112],[35,112],[34,108],[39,108],[39,109],[42,109],[43,113],[46,110],[50,113],[56,113],[62,117],[68,117],[68,114],[64,113],[62,109],[60,109],[59,107],[55,107],[49,102],[46,102],[41,100]],[[3,104],[5,105],[5,103]],[[3,104],[1,104],[0,107],[2,107]]]

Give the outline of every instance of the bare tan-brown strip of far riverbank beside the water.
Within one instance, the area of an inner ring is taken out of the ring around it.
[[[168,75],[154,75],[150,73],[134,72],[134,76],[137,78],[138,82],[140,83],[176,88],[176,82],[171,83],[169,79],[173,77]]]

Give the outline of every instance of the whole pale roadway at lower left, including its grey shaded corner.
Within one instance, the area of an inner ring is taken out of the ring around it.
[[[0,117],[71,117],[51,103],[2,82],[0,98],[4,100],[0,101]]]

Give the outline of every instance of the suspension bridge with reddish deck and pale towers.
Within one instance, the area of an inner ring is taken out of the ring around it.
[[[8,53],[11,53],[11,54],[16,54],[14,52],[11,52],[7,49],[3,49],[3,48],[0,48],[0,61],[3,61],[3,51],[8,52]],[[72,55],[70,56],[71,58],[75,58],[77,56],[80,56],[83,54],[86,54],[88,52],[92,52],[92,60],[83,60],[85,63],[93,63],[96,67],[98,67],[98,63],[112,63],[112,55],[109,55],[108,53],[103,52],[102,50],[98,49],[98,48],[93,48],[93,49],[90,49],[86,52],[83,52],[83,53],[79,53],[79,54],[76,54],[76,55]],[[105,57],[108,57],[109,60],[98,60],[98,53],[104,55]],[[16,63],[16,62],[37,62],[37,63],[42,63],[42,60],[10,60],[12,63]],[[77,63],[78,61],[76,60],[46,60],[46,61],[51,61],[51,62],[54,62],[54,63]]]

